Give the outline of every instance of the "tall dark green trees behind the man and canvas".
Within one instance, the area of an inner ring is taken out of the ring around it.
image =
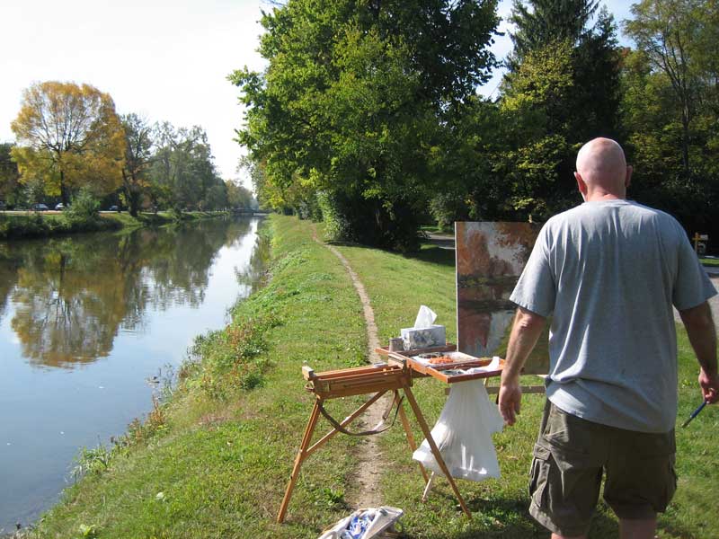
[[[230,76],[247,106],[263,207],[336,237],[416,244],[421,223],[544,221],[576,205],[574,160],[617,139],[629,196],[719,234],[719,3],[515,0],[513,50],[491,46],[496,0],[288,0],[265,13],[262,73]],[[618,24],[635,44],[617,43]]]

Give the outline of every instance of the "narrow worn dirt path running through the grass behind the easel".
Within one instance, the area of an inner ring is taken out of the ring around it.
[[[334,256],[336,256],[341,262],[342,266],[350,274],[352,284],[357,290],[359,300],[362,302],[362,309],[364,311],[365,321],[367,323],[367,342],[368,342],[368,358],[370,363],[379,361],[377,352],[375,349],[379,346],[379,339],[377,338],[377,324],[375,323],[375,312],[372,310],[372,306],[369,304],[369,296],[365,290],[362,281],[359,280],[357,273],[352,270],[350,262],[342,256],[342,253],[337,251],[332,245],[321,242],[317,238],[317,231],[313,227],[312,239],[320,245],[324,245],[329,249]],[[353,423],[353,427],[356,430],[374,429],[382,420],[382,413],[386,410],[389,405],[388,397],[382,397],[379,401],[375,402],[366,411],[359,420]],[[377,444],[377,436],[366,436],[362,437],[357,452],[355,453],[357,464],[355,472],[350,478],[350,490],[347,492],[347,499],[355,508],[377,508],[382,505],[382,491],[379,488],[379,480],[381,477],[382,470],[382,453],[379,450]]]

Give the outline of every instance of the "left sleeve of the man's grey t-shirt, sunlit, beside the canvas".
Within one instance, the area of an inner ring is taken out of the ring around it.
[[[549,263],[548,235],[547,225],[544,225],[510,296],[512,303],[545,317],[555,310],[556,297],[555,278]]]

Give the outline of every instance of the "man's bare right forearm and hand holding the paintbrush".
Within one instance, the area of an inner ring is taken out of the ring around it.
[[[679,311],[681,321],[687,328],[687,334],[701,370],[699,385],[704,400],[719,401],[719,374],[716,365],[716,327],[712,319],[712,310],[704,302],[690,309]]]

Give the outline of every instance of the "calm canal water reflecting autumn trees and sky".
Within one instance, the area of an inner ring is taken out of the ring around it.
[[[257,219],[0,243],[0,535],[152,406],[259,276]],[[156,376],[156,379],[154,378]]]

